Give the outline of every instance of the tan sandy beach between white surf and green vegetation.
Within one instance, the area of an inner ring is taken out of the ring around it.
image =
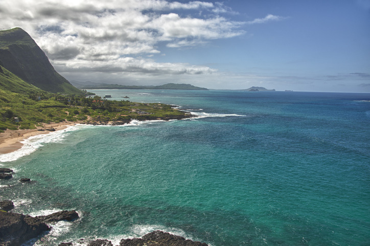
[[[0,154],[8,154],[10,152],[19,150],[22,147],[20,141],[25,140],[31,136],[40,134],[48,134],[50,131],[37,131],[38,129],[50,129],[54,128],[56,131],[63,130],[68,126],[73,126],[78,122],[66,121],[54,124],[43,124],[43,127],[38,127],[33,130],[9,130],[7,129],[4,133],[0,133]]]

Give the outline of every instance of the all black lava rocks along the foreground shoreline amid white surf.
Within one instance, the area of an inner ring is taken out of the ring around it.
[[[12,169],[0,168],[0,174],[13,173]],[[4,179],[11,179],[4,178]],[[25,181],[26,180],[26,181]],[[19,182],[29,183],[30,179],[25,178]],[[36,181],[33,181],[36,182]],[[12,201],[0,201],[0,246],[20,246],[30,239],[41,237],[47,234],[53,227],[53,224],[59,221],[73,222],[79,218],[75,210],[52,213],[44,216],[35,216],[13,213]],[[62,242],[58,246],[81,245],[83,239],[76,242]],[[87,246],[113,246],[107,239],[96,239],[85,242]],[[204,242],[192,241],[181,236],[172,235],[168,232],[153,231],[144,235],[142,238],[121,239],[116,246],[207,246]]]

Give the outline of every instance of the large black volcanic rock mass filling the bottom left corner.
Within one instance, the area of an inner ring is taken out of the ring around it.
[[[48,225],[38,218],[0,211],[0,245],[18,246],[49,230]]]

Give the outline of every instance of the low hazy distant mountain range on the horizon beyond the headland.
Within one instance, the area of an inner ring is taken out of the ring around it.
[[[71,80],[71,84],[79,89],[145,89],[145,90],[208,90],[207,88],[193,86],[191,84],[174,84],[169,83],[158,86],[139,86],[139,85],[117,85],[117,84],[103,84],[91,81],[80,82]]]

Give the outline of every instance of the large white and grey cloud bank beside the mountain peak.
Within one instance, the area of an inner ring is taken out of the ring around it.
[[[51,62],[73,72],[124,72],[199,75],[209,67],[156,63],[134,55],[159,54],[158,42],[168,47],[195,46],[208,40],[242,35],[243,22],[214,13],[232,10],[220,3],[166,0],[14,0],[0,2],[3,26],[26,30]],[[186,11],[212,13],[193,17]],[[167,13],[166,13],[167,12]]]

